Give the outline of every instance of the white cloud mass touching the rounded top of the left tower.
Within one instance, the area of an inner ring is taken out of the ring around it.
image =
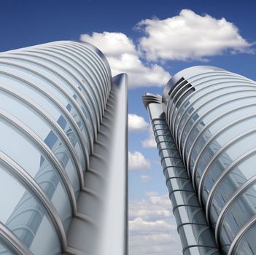
[[[166,85],[170,74],[154,63],[143,63],[132,39],[123,33],[82,34],[80,39],[98,47],[106,55],[112,76],[128,73],[129,87]]]

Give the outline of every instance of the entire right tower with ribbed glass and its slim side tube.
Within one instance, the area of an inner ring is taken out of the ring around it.
[[[256,82],[213,66],[146,94],[184,254],[256,254]]]

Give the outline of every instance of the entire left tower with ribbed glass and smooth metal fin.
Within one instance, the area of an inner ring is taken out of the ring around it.
[[[127,253],[127,83],[84,42],[0,54],[0,254]]]

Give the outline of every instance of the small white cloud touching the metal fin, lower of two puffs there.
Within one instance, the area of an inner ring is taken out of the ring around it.
[[[128,152],[129,170],[150,169],[150,162],[141,152]]]

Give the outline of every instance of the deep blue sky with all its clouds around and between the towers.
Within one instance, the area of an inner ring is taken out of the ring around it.
[[[84,39],[106,54],[113,74],[128,72],[130,255],[181,253],[141,95],[161,95],[171,75],[195,65],[256,79],[255,7],[248,0],[0,1],[0,51]]]

